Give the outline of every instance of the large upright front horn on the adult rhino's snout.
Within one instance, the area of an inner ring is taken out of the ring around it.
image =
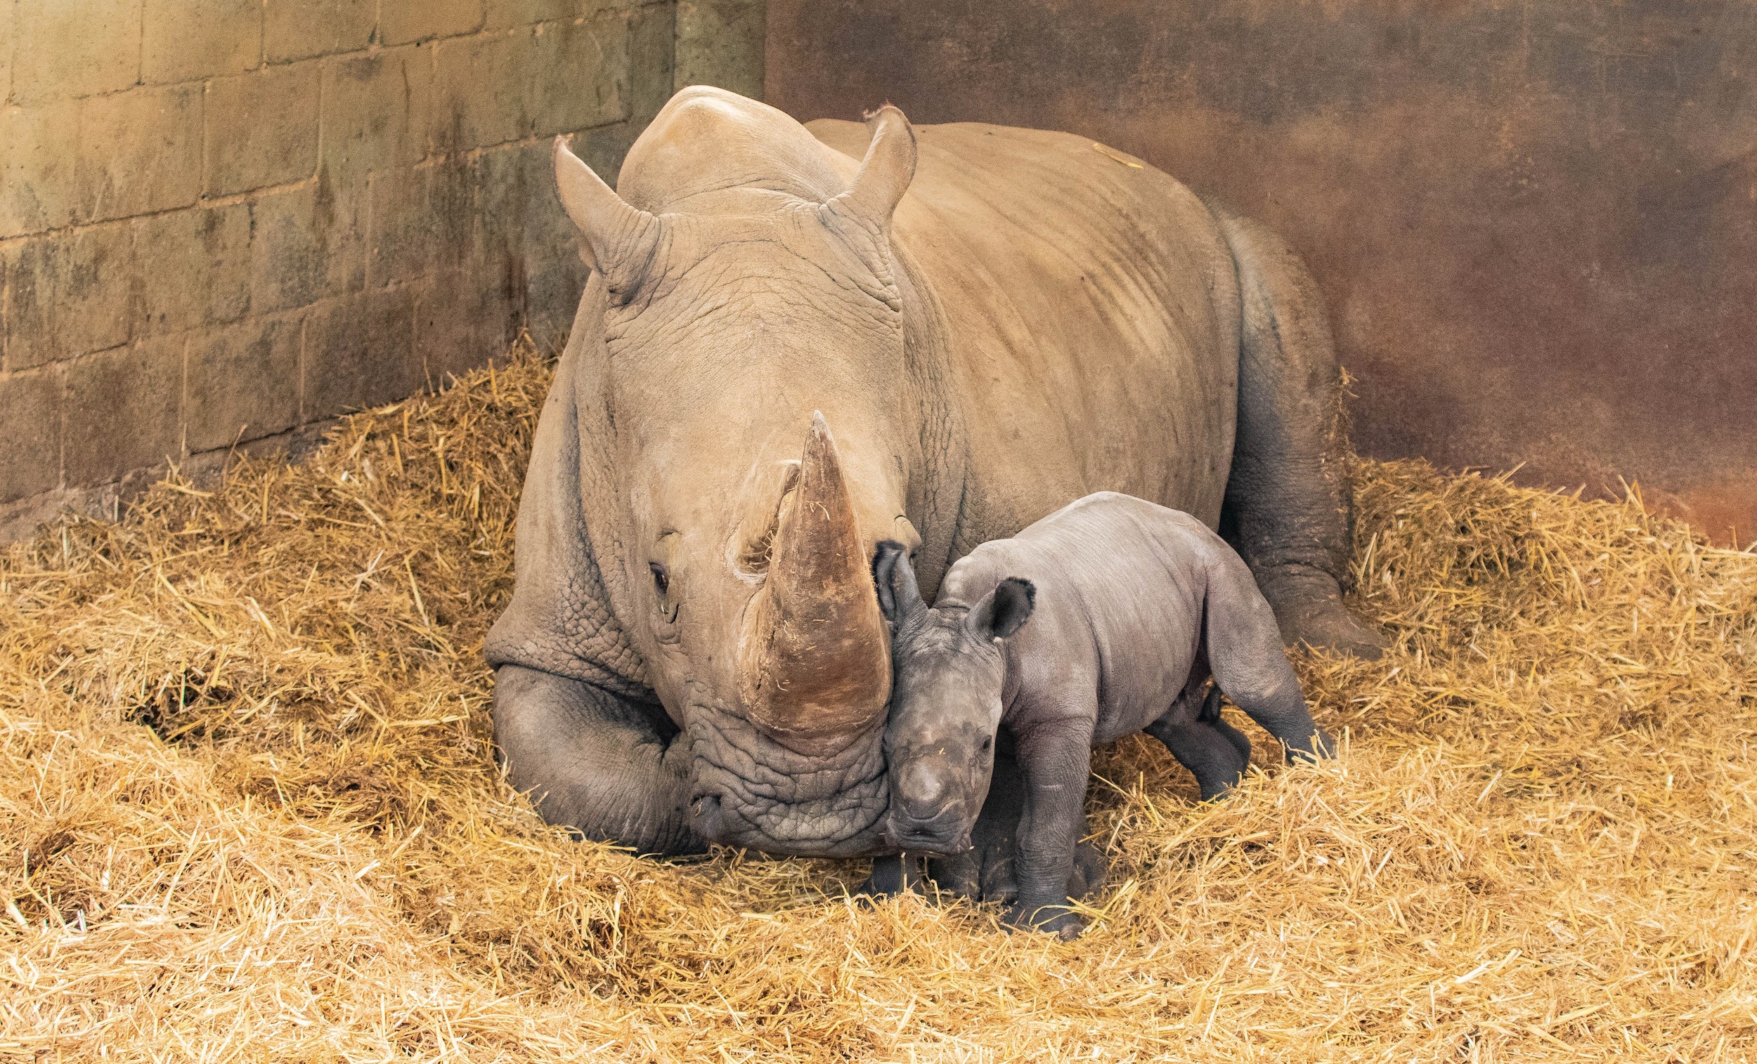
[[[891,697],[889,630],[821,413],[780,500],[768,578],[745,611],[738,683],[750,722],[801,753],[845,744],[884,718]]]

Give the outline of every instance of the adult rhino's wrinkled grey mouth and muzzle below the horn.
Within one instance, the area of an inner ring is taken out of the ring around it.
[[[687,737],[689,815],[706,841],[805,857],[886,852],[891,787],[882,725],[836,751],[801,755],[734,713],[696,706]]]

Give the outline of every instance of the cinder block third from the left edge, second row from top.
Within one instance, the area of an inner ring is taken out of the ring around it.
[[[207,195],[290,184],[316,170],[322,67],[265,67],[207,83]]]

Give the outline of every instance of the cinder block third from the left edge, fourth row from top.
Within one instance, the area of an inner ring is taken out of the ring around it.
[[[228,448],[299,423],[299,316],[249,318],[190,339],[184,444]]]

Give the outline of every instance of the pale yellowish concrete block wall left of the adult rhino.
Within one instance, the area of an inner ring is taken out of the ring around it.
[[[555,337],[613,176],[761,0],[0,0],[0,541]]]

